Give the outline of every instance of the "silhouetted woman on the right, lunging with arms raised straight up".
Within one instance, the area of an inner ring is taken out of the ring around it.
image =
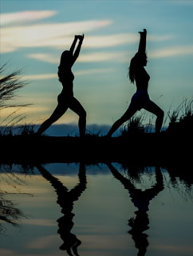
[[[147,65],[147,55],[145,50],[146,35],[146,30],[140,32],[139,49],[136,55],[132,58],[129,66],[128,75],[132,83],[136,82],[136,94],[132,96],[132,101],[128,106],[128,110],[126,110],[124,115],[112,125],[112,128],[108,131],[108,136],[111,136],[124,122],[128,121],[137,110],[141,110],[142,108],[156,114],[156,133],[159,133],[161,130],[163,110],[152,102],[148,96],[148,82],[150,77],[144,69],[144,66]]]

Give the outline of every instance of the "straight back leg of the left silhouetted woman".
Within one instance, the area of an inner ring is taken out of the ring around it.
[[[40,128],[37,130],[37,134],[42,134],[46,129],[49,128],[49,126],[53,124],[53,122],[56,122],[59,118],[61,118],[67,109],[68,106],[58,104],[56,109],[53,111],[53,114],[51,114],[51,116],[41,124]]]

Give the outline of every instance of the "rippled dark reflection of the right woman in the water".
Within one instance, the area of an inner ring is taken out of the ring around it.
[[[156,167],[156,184],[151,189],[144,191],[136,189],[132,182],[128,178],[124,178],[112,164],[108,163],[108,168],[112,171],[113,176],[128,190],[134,206],[138,209],[135,212],[136,217],[128,220],[128,225],[132,227],[128,233],[132,234],[132,239],[138,249],[138,255],[145,255],[148,247],[148,234],[144,234],[143,232],[149,229],[148,206],[151,200],[163,190],[163,176],[160,168]]]

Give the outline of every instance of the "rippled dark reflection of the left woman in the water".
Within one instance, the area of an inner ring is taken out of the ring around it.
[[[80,163],[79,168],[79,183],[72,190],[69,190],[52,174],[49,174],[49,171],[41,165],[37,166],[38,170],[41,172],[42,176],[47,179],[54,189],[57,192],[57,203],[61,206],[61,213],[64,214],[61,218],[57,219],[58,222],[58,231],[63,244],[60,246],[61,250],[66,250],[69,255],[77,253],[77,247],[81,245],[81,241],[76,237],[75,234],[71,233],[73,228],[73,202],[77,201],[81,196],[81,193],[86,188],[86,174],[85,174],[85,164]]]

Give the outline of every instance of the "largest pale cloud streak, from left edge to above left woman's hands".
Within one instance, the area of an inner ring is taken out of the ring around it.
[[[74,34],[87,33],[112,24],[111,20],[11,26],[1,30],[1,52],[8,53],[26,47],[69,48]]]

